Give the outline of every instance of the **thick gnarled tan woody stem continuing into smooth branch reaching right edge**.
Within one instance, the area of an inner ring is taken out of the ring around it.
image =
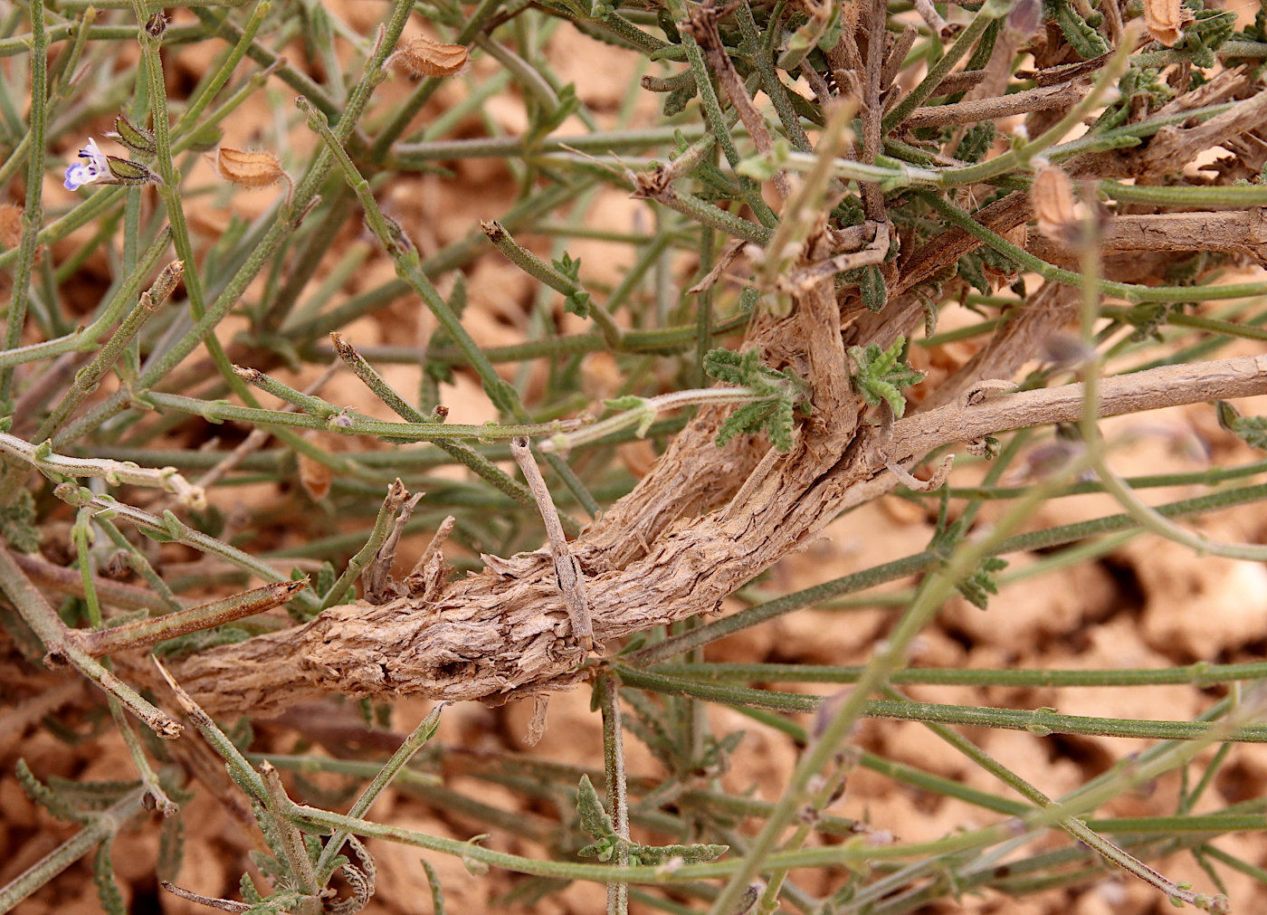
[[[1110,378],[1101,392],[1101,416],[1264,394],[1267,356]],[[807,479],[796,460],[772,450],[731,508],[666,531],[641,556],[616,568],[587,532],[571,549],[589,579],[594,637],[618,639],[713,612],[735,588],[815,536],[836,513],[892,489],[898,480],[887,461],[917,460],[933,449],[1005,430],[1076,419],[1081,398],[1081,385],[1071,384],[915,414],[893,423],[883,440],[877,430],[864,432],[862,447],[837,451],[834,466],[817,479]],[[802,433],[802,440],[813,437],[812,430]],[[844,449],[839,436],[827,441]],[[519,554],[452,583],[435,601],[332,607],[298,631],[204,651],[185,660],[177,677],[199,703],[217,712],[276,712],[326,692],[499,702],[564,688],[583,675],[566,648],[566,620],[549,556]]]

